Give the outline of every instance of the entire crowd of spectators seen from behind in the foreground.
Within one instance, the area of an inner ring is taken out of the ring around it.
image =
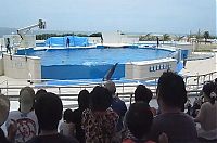
[[[135,90],[128,108],[108,80],[92,91],[81,90],[78,108],[63,110],[62,100],[43,89],[20,91],[20,107],[0,94],[0,143],[196,143],[217,142],[217,82],[204,84],[200,107],[188,101],[183,78],[165,72],[156,89],[157,107],[150,106],[152,91]],[[187,112],[186,112],[187,110]]]

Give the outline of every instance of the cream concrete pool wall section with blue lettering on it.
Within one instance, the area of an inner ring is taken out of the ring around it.
[[[174,58],[127,63],[125,66],[125,77],[139,80],[151,79],[159,77],[168,68],[176,70],[176,66],[177,61]]]

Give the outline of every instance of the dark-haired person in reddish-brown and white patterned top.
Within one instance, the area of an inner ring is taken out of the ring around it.
[[[90,109],[84,110],[81,121],[86,143],[111,143],[118,120],[118,115],[111,108],[112,95],[99,86],[90,94]]]

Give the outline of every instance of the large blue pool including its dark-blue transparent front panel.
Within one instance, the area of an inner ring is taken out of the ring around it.
[[[26,51],[41,57],[41,78],[100,79],[118,63],[113,78],[125,77],[125,63],[163,58],[173,51],[155,48],[89,48],[49,49]],[[25,54],[20,50],[17,54]]]

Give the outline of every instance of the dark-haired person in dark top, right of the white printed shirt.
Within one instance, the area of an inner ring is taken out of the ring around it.
[[[27,143],[78,143],[74,138],[58,133],[63,104],[56,94],[48,92],[40,95],[36,102],[35,110],[41,131],[39,135]]]

